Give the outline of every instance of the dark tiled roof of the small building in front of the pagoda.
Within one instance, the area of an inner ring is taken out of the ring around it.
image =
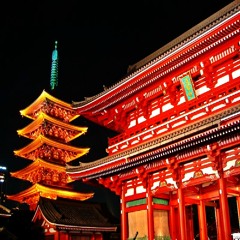
[[[116,219],[104,204],[40,198],[33,221],[43,218],[59,230],[116,232]]]

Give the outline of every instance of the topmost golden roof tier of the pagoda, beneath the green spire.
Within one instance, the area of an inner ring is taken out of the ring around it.
[[[64,122],[71,122],[79,117],[71,104],[51,96],[45,90],[32,104],[21,110],[20,114],[30,119],[36,119],[41,112],[61,119]]]

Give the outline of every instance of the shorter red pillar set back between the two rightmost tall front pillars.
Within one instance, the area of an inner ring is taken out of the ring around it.
[[[199,201],[199,205],[198,205],[198,221],[199,221],[200,240],[208,239],[206,208],[202,199]]]

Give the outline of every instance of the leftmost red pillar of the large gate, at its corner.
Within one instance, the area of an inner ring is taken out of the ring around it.
[[[121,239],[126,240],[128,238],[127,230],[127,213],[126,213],[126,203],[125,203],[125,185],[122,183],[121,192]]]

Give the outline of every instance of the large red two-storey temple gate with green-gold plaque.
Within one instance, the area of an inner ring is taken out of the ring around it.
[[[232,239],[240,204],[240,6],[233,1],[73,109],[117,132],[104,158],[67,164],[73,180],[120,196],[121,239]],[[193,214],[193,209],[196,212]],[[240,209],[238,217],[240,218]]]

